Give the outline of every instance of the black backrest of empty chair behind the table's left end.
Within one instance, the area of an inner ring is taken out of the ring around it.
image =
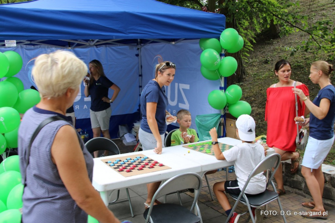
[[[99,150],[107,150],[114,153],[115,155],[120,154],[119,147],[111,139],[107,139],[104,137],[96,137],[90,139],[85,143],[85,146],[90,153]]]

